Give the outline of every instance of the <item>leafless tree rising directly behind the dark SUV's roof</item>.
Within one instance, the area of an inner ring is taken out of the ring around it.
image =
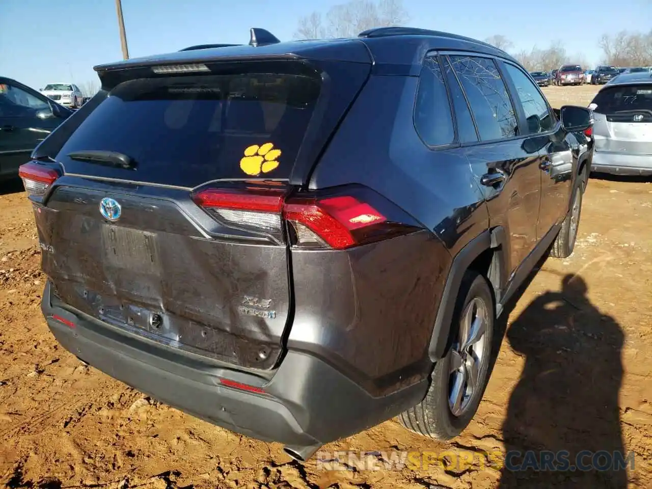
[[[373,27],[391,27],[408,22],[402,0],[350,0],[331,7],[322,19],[319,12],[299,19],[299,39],[356,37]]]

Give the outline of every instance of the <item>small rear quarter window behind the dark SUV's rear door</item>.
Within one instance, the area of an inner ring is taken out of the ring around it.
[[[426,58],[423,63],[414,123],[421,139],[430,146],[454,140],[451,105],[441,67],[435,58]]]

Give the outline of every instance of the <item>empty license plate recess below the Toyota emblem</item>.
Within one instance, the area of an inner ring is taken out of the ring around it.
[[[103,224],[102,245],[105,263],[111,269],[146,274],[158,271],[155,233]]]

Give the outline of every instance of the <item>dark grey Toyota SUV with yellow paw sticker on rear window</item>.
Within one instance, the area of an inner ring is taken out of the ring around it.
[[[421,29],[95,69],[21,169],[66,349],[298,460],[397,415],[464,429],[497,316],[572,252],[590,110]]]

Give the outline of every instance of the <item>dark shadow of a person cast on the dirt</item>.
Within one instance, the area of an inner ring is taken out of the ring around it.
[[[582,277],[534,299],[507,331],[525,366],[503,424],[500,488],[626,488],[618,392],[624,334]]]

